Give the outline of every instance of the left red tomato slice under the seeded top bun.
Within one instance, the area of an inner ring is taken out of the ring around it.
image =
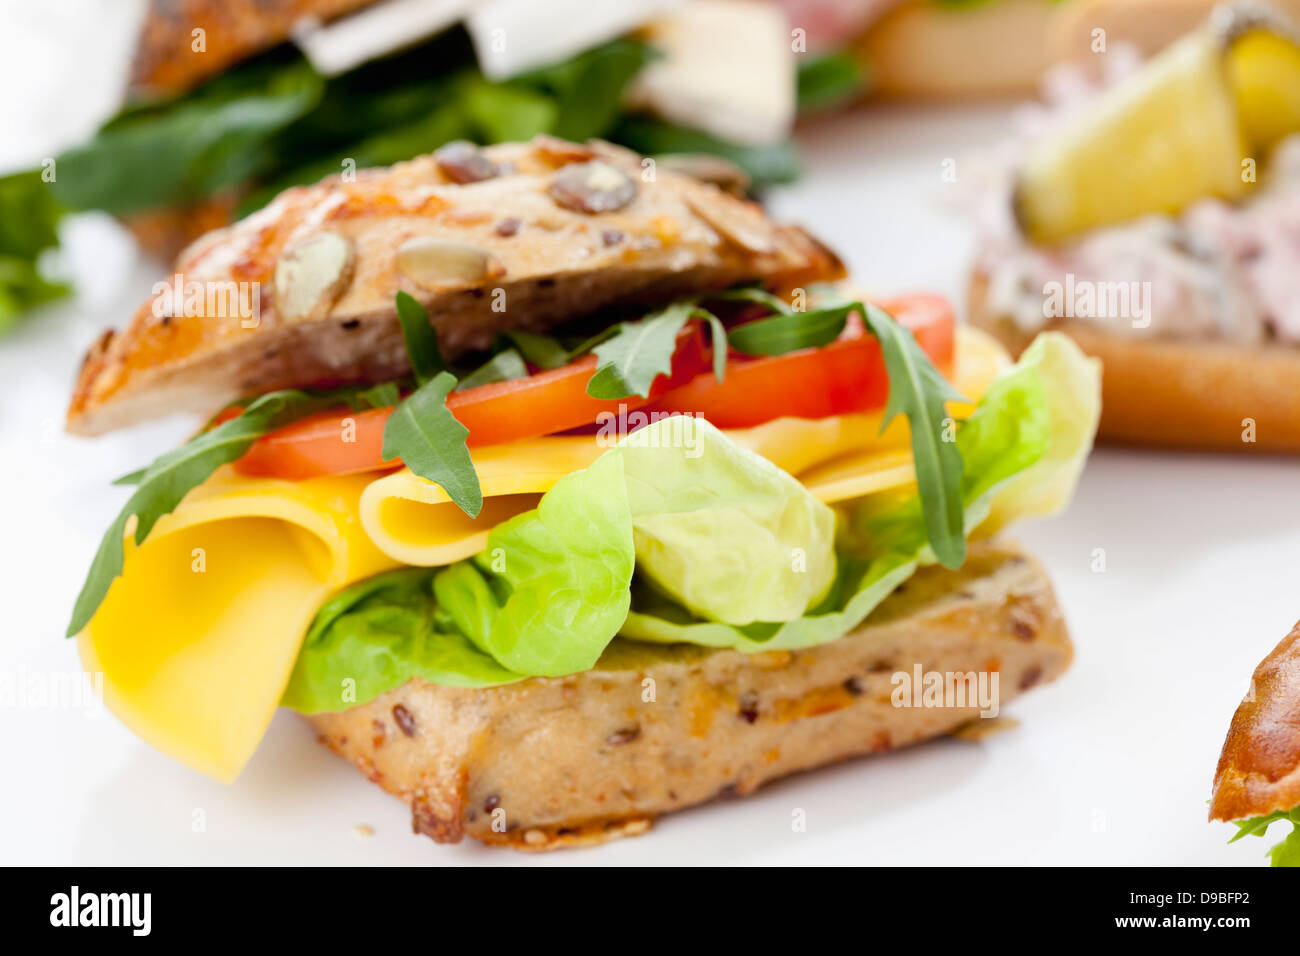
[[[694,380],[708,364],[708,350],[698,325],[677,339],[672,375],[659,376],[650,398],[630,395],[618,401],[592,398],[586,384],[597,359],[586,355],[563,368],[526,378],[478,385],[447,397],[447,408],[469,429],[471,447],[536,438],[597,420],[601,412],[618,415],[654,401]],[[384,460],[384,425],[391,408],[330,410],[294,421],[252,444],[235,462],[243,475],[300,480],[320,475],[347,475],[395,467]]]

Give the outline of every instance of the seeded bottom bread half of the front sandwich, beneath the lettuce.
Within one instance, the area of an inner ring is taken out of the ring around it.
[[[980,680],[1005,705],[1070,658],[1041,566],[994,540],[972,545],[959,571],[920,570],[853,633],[815,648],[742,654],[616,640],[584,674],[485,689],[416,679],[308,719],[407,803],[417,832],[551,849],[642,832],[670,810],[950,732],[992,710]],[[952,691],[907,688],[914,705],[902,706],[896,675],[915,683],[918,666]]]

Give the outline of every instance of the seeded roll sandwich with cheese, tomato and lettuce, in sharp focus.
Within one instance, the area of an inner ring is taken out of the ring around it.
[[[598,140],[286,191],[82,367],[74,433],[207,421],[121,480],[86,669],[213,778],[286,706],[416,831],[523,849],[996,714],[1070,662],[998,532],[1067,503],[1097,364],[842,280]]]

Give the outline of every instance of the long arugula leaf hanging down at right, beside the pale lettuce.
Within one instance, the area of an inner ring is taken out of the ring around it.
[[[944,567],[957,568],[966,559],[962,518],[962,455],[956,440],[948,441],[945,402],[965,401],[933,367],[915,337],[876,306],[853,303],[867,328],[880,341],[889,372],[889,403],[884,431],[900,414],[911,425],[911,455],[916,466],[916,489],[926,512],[926,532],[935,557]],[[956,434],[954,434],[956,438]]]

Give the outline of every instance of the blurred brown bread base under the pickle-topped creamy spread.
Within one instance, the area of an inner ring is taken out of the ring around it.
[[[988,278],[971,277],[972,325],[1013,355],[1034,339],[988,310]],[[1071,320],[1049,328],[1101,359],[1106,441],[1183,449],[1300,451],[1300,349],[1114,336]],[[1249,423],[1253,438],[1247,441]]]

